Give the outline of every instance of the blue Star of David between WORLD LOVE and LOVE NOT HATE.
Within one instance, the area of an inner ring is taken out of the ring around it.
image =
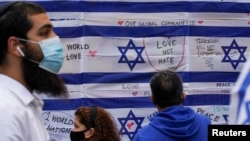
[[[136,47],[131,39],[129,40],[128,45],[126,47],[118,47],[118,49],[122,54],[118,63],[127,63],[131,71],[134,69],[136,63],[145,63],[144,59],[141,56],[144,47]],[[129,60],[127,58],[126,53],[128,50],[134,50],[137,53],[135,60]]]

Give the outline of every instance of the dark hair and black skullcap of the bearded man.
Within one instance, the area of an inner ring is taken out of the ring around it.
[[[0,5],[0,65],[7,53],[7,40],[11,36],[27,39],[27,32],[33,27],[29,16],[46,13],[39,4],[32,2],[11,2]]]

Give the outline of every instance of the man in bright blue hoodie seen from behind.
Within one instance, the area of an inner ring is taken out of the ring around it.
[[[207,141],[211,120],[183,106],[185,94],[178,73],[157,72],[150,81],[151,100],[158,113],[133,141]]]

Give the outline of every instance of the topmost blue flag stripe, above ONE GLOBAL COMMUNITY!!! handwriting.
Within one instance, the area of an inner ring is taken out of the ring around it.
[[[250,3],[38,1],[49,12],[228,12],[249,13]],[[1,4],[1,3],[0,3]]]

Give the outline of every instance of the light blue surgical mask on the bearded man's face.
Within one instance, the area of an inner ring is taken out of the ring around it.
[[[40,42],[30,41],[21,38],[18,39],[21,41],[39,44],[41,47],[43,53],[43,60],[41,62],[37,62],[35,60],[26,57],[28,60],[38,63],[40,68],[47,70],[51,73],[56,74],[59,72],[63,64],[64,54],[63,54],[62,43],[58,36],[48,38]],[[21,51],[19,47],[17,47],[17,50],[23,57],[25,57],[24,53]]]

